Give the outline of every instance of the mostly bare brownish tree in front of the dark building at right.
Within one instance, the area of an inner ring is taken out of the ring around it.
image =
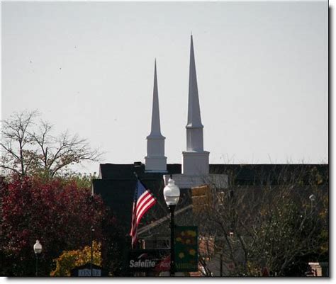
[[[230,176],[229,186],[210,187],[194,210],[199,234],[211,240],[208,270],[219,271],[222,259],[226,276],[260,276],[264,268],[288,276],[328,255],[328,177],[305,166],[259,174],[249,185]]]

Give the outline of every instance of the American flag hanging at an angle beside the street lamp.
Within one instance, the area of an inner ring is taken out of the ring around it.
[[[130,229],[130,236],[132,237],[132,248],[138,239],[138,225],[145,212],[150,210],[157,200],[150,193],[145,186],[138,180],[137,187],[135,188],[133,214],[132,214],[132,227]]]

